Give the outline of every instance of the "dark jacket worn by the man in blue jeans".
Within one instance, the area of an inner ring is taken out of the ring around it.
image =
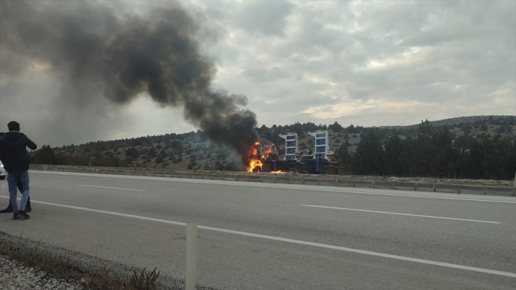
[[[0,160],[8,172],[29,170],[26,147],[36,150],[38,146],[24,133],[10,131],[0,137]]]

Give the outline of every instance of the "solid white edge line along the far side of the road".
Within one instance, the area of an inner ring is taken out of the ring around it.
[[[33,171],[37,174],[54,174],[54,175],[75,175],[75,176],[91,176],[99,178],[123,178],[132,180],[147,180],[147,181],[165,181],[165,182],[177,182],[177,183],[199,183],[199,184],[216,184],[216,185],[232,185],[232,186],[244,186],[250,188],[278,188],[287,190],[308,190],[314,192],[337,192],[337,193],[354,193],[354,194],[371,194],[371,195],[386,195],[391,197],[418,197],[423,199],[451,199],[457,201],[480,201],[480,202],[495,202],[500,204],[516,204],[516,201],[501,201],[491,199],[468,199],[468,198],[457,198],[457,197],[431,197],[428,195],[416,195],[416,194],[395,194],[395,193],[379,193],[379,192],[363,192],[354,191],[350,188],[340,188],[340,190],[329,190],[324,188],[301,188],[294,186],[278,186],[283,185],[282,183],[268,183],[268,185],[257,185],[247,181],[218,181],[218,180],[200,180],[200,179],[189,179],[189,178],[174,178],[174,177],[156,177],[156,176],[126,176],[116,174],[88,174],[88,173],[77,173],[77,172],[59,172],[59,171]],[[271,186],[274,184],[276,186]],[[286,184],[285,184],[286,185]],[[314,185],[315,186],[315,185]],[[317,185],[318,186],[318,185]],[[471,194],[461,194],[471,195]]]

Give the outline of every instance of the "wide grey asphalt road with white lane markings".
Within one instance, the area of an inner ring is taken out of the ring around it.
[[[220,289],[516,289],[516,199],[31,171],[0,230]],[[0,207],[8,203],[0,181]]]

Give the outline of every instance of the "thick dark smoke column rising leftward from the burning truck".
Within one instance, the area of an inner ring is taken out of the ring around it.
[[[177,3],[145,14],[123,6],[1,1],[1,76],[48,63],[61,100],[76,107],[98,96],[122,104],[148,93],[162,106],[183,107],[185,119],[214,142],[244,153],[257,139],[256,116],[242,108],[245,96],[211,86],[216,70],[202,54],[198,24]]]

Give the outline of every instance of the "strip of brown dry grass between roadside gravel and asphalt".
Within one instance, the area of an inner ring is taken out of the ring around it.
[[[80,281],[83,289],[113,290],[155,290],[156,280],[160,275],[157,269],[149,272],[146,269],[134,270],[132,275],[116,273],[112,268],[86,269],[76,266],[66,252],[55,252],[44,243],[36,246],[29,241],[10,241],[0,238],[0,254],[22,261],[30,266],[43,268],[45,272],[68,281]]]

